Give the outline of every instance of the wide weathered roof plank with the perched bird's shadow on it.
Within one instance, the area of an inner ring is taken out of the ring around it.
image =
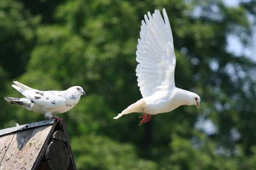
[[[52,125],[15,132],[6,151],[0,170],[31,170],[41,149],[51,135]]]

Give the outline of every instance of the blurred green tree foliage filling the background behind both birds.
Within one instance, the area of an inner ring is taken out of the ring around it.
[[[80,85],[87,96],[58,115],[79,170],[256,170],[256,54],[247,52],[256,1],[227,1],[1,0],[0,129],[44,120],[3,99],[21,97],[13,80],[40,90]],[[176,85],[199,94],[201,108],[182,106],[142,126],[138,113],[114,120],[141,98],[141,20],[163,7]]]

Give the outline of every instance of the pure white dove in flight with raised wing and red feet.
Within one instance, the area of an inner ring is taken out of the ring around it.
[[[159,10],[144,16],[138,40],[136,68],[138,86],[142,99],[128,106],[114,119],[142,112],[140,125],[149,122],[151,115],[173,111],[181,105],[200,106],[200,97],[190,91],[175,87],[174,71],[176,58],[172,30],[165,8],[163,18]]]

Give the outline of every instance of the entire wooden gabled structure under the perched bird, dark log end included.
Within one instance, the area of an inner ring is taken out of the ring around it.
[[[76,170],[65,122],[0,130],[0,170]]]

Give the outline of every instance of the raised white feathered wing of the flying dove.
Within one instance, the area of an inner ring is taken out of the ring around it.
[[[160,11],[155,10],[152,16],[148,12],[145,21],[142,20],[136,51],[136,60],[139,62],[136,76],[143,97],[175,87],[176,59],[172,30],[164,8],[163,18]]]

